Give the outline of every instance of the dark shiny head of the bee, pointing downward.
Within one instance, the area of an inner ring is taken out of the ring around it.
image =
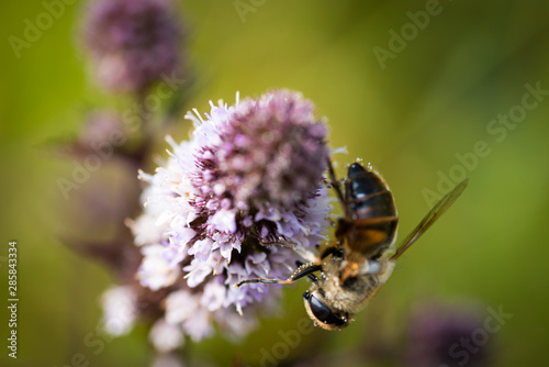
[[[325,330],[340,330],[349,324],[349,314],[334,310],[328,305],[320,291],[306,291],[303,293],[305,310],[314,321],[315,326]]]

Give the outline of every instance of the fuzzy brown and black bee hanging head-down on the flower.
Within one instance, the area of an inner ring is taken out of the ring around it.
[[[359,163],[348,167],[347,179],[336,179],[328,162],[330,186],[344,209],[335,229],[335,241],[320,255],[304,247],[290,245],[307,260],[285,280],[255,278],[237,283],[288,285],[309,277],[311,288],[303,293],[305,310],[315,326],[340,330],[366,307],[391,276],[396,259],[438,219],[463,192],[468,180],[460,182],[425,215],[419,224],[397,246],[399,216],[394,198],[383,178],[371,167]],[[341,187],[343,186],[343,187]],[[315,275],[320,273],[320,277]]]

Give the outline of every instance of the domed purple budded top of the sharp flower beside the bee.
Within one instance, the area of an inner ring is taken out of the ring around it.
[[[247,99],[219,126],[220,140],[197,153],[194,186],[204,207],[249,212],[291,209],[318,186],[328,149],[311,102],[278,91]],[[202,204],[202,203],[201,203]]]

